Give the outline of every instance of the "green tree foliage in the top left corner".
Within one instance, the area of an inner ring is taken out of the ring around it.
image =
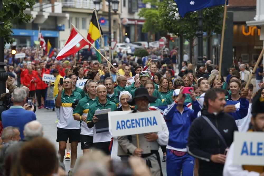
[[[31,9],[34,0],[3,0],[3,9],[0,11],[0,21],[4,25],[0,25],[0,36],[4,37],[4,44],[13,43],[15,39],[11,37],[13,25],[22,25],[29,23],[33,19],[29,14],[25,14],[24,10]]]

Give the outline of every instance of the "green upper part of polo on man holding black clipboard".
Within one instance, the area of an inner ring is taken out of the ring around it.
[[[107,100],[106,99],[106,104],[105,107],[103,107],[100,103],[99,100],[95,101],[91,106],[90,109],[88,111],[88,115],[87,115],[87,122],[91,122],[93,115],[95,114],[96,110],[103,110],[103,109],[108,109],[110,108],[111,111],[114,111],[117,109],[116,104]]]

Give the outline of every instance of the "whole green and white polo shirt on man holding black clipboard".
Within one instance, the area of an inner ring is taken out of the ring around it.
[[[117,109],[116,104],[114,102],[111,102],[106,99],[106,104],[103,106],[99,103],[99,100],[93,102],[93,104],[90,106],[88,115],[87,115],[87,123],[92,121],[93,115],[95,114],[96,110],[103,110],[110,108],[111,111],[114,111]],[[95,124],[96,126],[96,124]],[[93,143],[96,142],[109,142],[111,141],[112,135],[109,131],[102,132],[102,133],[96,133],[95,126],[93,128]]]

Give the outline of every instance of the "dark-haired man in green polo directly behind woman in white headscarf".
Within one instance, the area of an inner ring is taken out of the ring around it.
[[[106,99],[114,102],[116,104],[116,106],[119,106],[119,95],[120,95],[120,91],[117,91],[114,88],[114,81],[112,78],[108,77],[105,78],[105,87],[107,90],[107,95],[106,95]]]

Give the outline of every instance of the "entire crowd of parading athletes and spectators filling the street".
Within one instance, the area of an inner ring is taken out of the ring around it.
[[[263,132],[263,65],[258,65],[254,86],[252,70],[242,61],[234,60],[225,79],[206,57],[193,73],[188,58],[178,61],[176,47],[163,55],[158,49],[147,51],[143,58],[120,51],[110,66],[82,57],[76,61],[76,56],[35,58],[34,48],[19,49],[26,57],[14,59],[6,50],[0,175],[158,176],[164,172],[161,162],[169,176],[264,175],[263,166],[237,165],[232,158],[234,131]],[[43,74],[55,81],[43,81]],[[86,80],[83,88],[77,80]],[[43,137],[36,106],[56,112],[58,152]],[[96,111],[107,109],[161,110],[162,130],[119,137],[108,130],[97,133]],[[76,161],[79,142],[83,157]],[[70,160],[66,172],[65,159]]]

